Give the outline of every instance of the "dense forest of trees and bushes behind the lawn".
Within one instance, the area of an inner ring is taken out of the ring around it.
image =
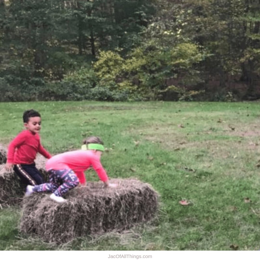
[[[260,98],[258,0],[0,0],[0,101]]]

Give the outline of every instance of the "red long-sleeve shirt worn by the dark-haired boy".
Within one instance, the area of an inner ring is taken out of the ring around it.
[[[24,130],[12,140],[8,147],[7,162],[11,164],[32,164],[37,153],[42,154],[47,159],[51,158],[41,145],[40,135]]]

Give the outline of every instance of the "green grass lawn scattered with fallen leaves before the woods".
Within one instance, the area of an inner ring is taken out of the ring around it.
[[[151,223],[64,245],[21,234],[20,208],[3,208],[0,250],[260,249],[260,103],[0,103],[1,144],[22,130],[30,108],[42,115],[41,141],[50,153],[100,136],[108,176],[151,184],[161,206]],[[179,204],[185,199],[191,205]]]

